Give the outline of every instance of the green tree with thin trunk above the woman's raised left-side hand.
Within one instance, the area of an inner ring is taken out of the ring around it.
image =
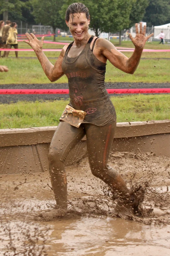
[[[37,23],[45,26],[52,26],[55,41],[55,29],[66,29],[65,20],[60,14],[64,1],[62,0],[31,0],[33,6],[33,15]]]

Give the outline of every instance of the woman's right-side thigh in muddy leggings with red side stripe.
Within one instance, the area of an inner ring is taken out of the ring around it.
[[[105,127],[85,125],[85,130],[91,169],[107,170],[107,161],[116,131],[116,122]]]

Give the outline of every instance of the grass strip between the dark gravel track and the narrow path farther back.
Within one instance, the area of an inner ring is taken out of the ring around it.
[[[55,59],[50,60],[52,64]],[[106,65],[106,79],[108,82],[147,82],[162,83],[169,82],[170,60],[141,60],[135,74],[126,74],[115,68],[110,62]],[[1,65],[6,65],[9,72],[0,73],[0,84],[26,84],[26,83],[50,83],[44,74],[37,59],[1,59]],[[156,66],[156,67],[154,67]],[[64,75],[56,83],[67,83]]]

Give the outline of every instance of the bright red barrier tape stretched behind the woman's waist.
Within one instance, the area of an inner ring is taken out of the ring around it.
[[[170,88],[107,89],[109,94],[170,93]],[[0,94],[69,94],[68,89],[0,89]]]

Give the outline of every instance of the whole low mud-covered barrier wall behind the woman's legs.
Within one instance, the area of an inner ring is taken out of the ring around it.
[[[0,129],[0,174],[48,171],[48,151],[56,128]],[[170,156],[170,120],[117,123],[112,150]],[[66,165],[84,157],[86,137],[70,152]]]

